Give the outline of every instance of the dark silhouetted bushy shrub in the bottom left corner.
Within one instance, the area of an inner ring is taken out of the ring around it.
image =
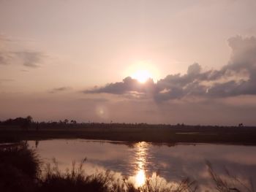
[[[0,148],[0,188],[2,191],[33,191],[40,161],[26,143]]]

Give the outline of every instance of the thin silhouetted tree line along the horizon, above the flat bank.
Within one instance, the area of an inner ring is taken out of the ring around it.
[[[76,120],[59,120],[59,121],[34,121],[31,115],[26,118],[10,118],[7,120],[0,121],[1,127],[13,127],[21,128],[23,130],[36,129],[40,128],[172,128],[173,130],[187,130],[187,131],[206,131],[206,130],[222,130],[223,128],[255,128],[252,126],[244,126],[243,123],[239,123],[238,126],[200,126],[200,125],[185,125],[184,123],[177,123],[176,125],[171,124],[148,124],[148,123],[113,123],[110,120],[110,123],[94,123],[91,121],[78,123]]]

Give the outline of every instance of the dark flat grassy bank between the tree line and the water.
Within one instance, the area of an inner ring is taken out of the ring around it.
[[[0,142],[40,139],[106,139],[125,142],[256,145],[256,128],[0,128]]]

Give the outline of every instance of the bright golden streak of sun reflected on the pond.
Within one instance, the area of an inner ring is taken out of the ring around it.
[[[138,142],[135,144],[135,185],[140,187],[146,182],[148,143]]]

